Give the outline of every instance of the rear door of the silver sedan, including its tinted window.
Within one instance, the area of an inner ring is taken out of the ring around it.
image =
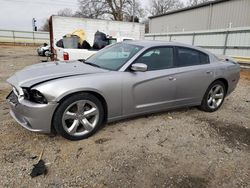
[[[177,47],[176,50],[176,103],[177,105],[200,103],[213,80],[213,68],[209,56],[198,50]]]

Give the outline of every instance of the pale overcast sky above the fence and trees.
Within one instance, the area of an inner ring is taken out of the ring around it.
[[[140,0],[148,6],[150,0]],[[185,1],[185,0],[183,0]],[[59,10],[78,9],[77,0],[0,0],[0,29],[32,30],[32,18],[37,20],[40,28],[46,18]]]

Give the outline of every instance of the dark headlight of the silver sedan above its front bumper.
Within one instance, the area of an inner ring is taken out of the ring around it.
[[[29,101],[40,104],[48,103],[47,99],[43,96],[43,94],[36,89],[30,90],[28,88],[23,88],[23,93],[24,93],[24,98]]]

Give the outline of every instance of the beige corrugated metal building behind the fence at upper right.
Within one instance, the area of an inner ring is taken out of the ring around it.
[[[217,0],[149,17],[149,33],[250,26],[250,0]]]

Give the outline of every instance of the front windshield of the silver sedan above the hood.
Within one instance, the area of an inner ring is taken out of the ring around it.
[[[85,62],[104,69],[118,70],[142,48],[142,46],[117,43],[104,48],[88,58]]]

